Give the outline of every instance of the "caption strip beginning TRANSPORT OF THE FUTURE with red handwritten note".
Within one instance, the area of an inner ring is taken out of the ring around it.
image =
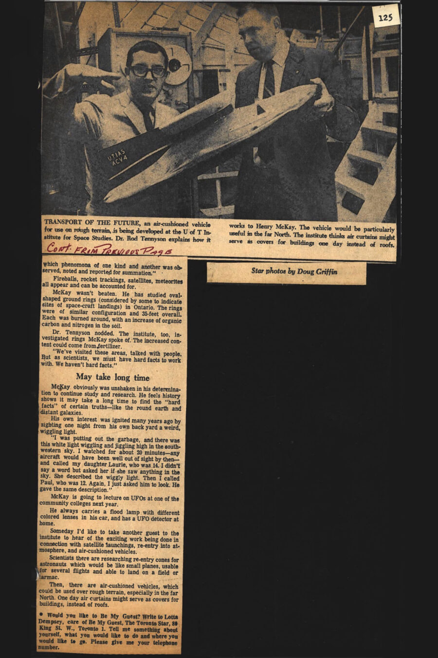
[[[394,262],[395,224],[44,215],[43,253]]]

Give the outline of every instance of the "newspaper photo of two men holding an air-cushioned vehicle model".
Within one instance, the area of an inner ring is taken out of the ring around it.
[[[47,3],[43,213],[395,222],[400,26],[374,20]]]

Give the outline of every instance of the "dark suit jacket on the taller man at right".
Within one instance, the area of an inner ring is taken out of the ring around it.
[[[261,62],[242,70],[236,80],[236,107],[254,103]],[[321,78],[335,99],[324,118],[305,111],[292,115],[274,140],[274,160],[255,164],[252,149],[242,157],[234,217],[254,220],[336,221],[334,170],[326,134],[352,141],[359,130],[357,114],[347,106],[347,89],[332,54],[290,44],[280,91]]]

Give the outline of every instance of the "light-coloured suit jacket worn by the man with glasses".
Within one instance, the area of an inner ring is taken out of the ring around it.
[[[123,201],[107,207],[103,198],[108,191],[106,178],[100,170],[98,152],[125,139],[146,132],[144,118],[128,91],[114,96],[93,94],[81,103],[75,102],[75,89],[68,88],[64,70],[45,85],[44,96],[49,101],[49,116],[45,124],[55,126],[63,139],[83,145],[85,151],[85,188],[89,215],[178,216],[178,194],[169,193],[169,185],[151,190],[141,201]],[[156,102],[155,127],[162,128],[179,116],[177,110]],[[49,126],[47,126],[49,129]],[[53,132],[53,128],[52,128]],[[175,184],[171,184],[175,185]],[[173,207],[173,203],[175,207]]]

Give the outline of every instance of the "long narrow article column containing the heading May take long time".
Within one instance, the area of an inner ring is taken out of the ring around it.
[[[186,268],[43,256],[39,651],[181,651]]]

